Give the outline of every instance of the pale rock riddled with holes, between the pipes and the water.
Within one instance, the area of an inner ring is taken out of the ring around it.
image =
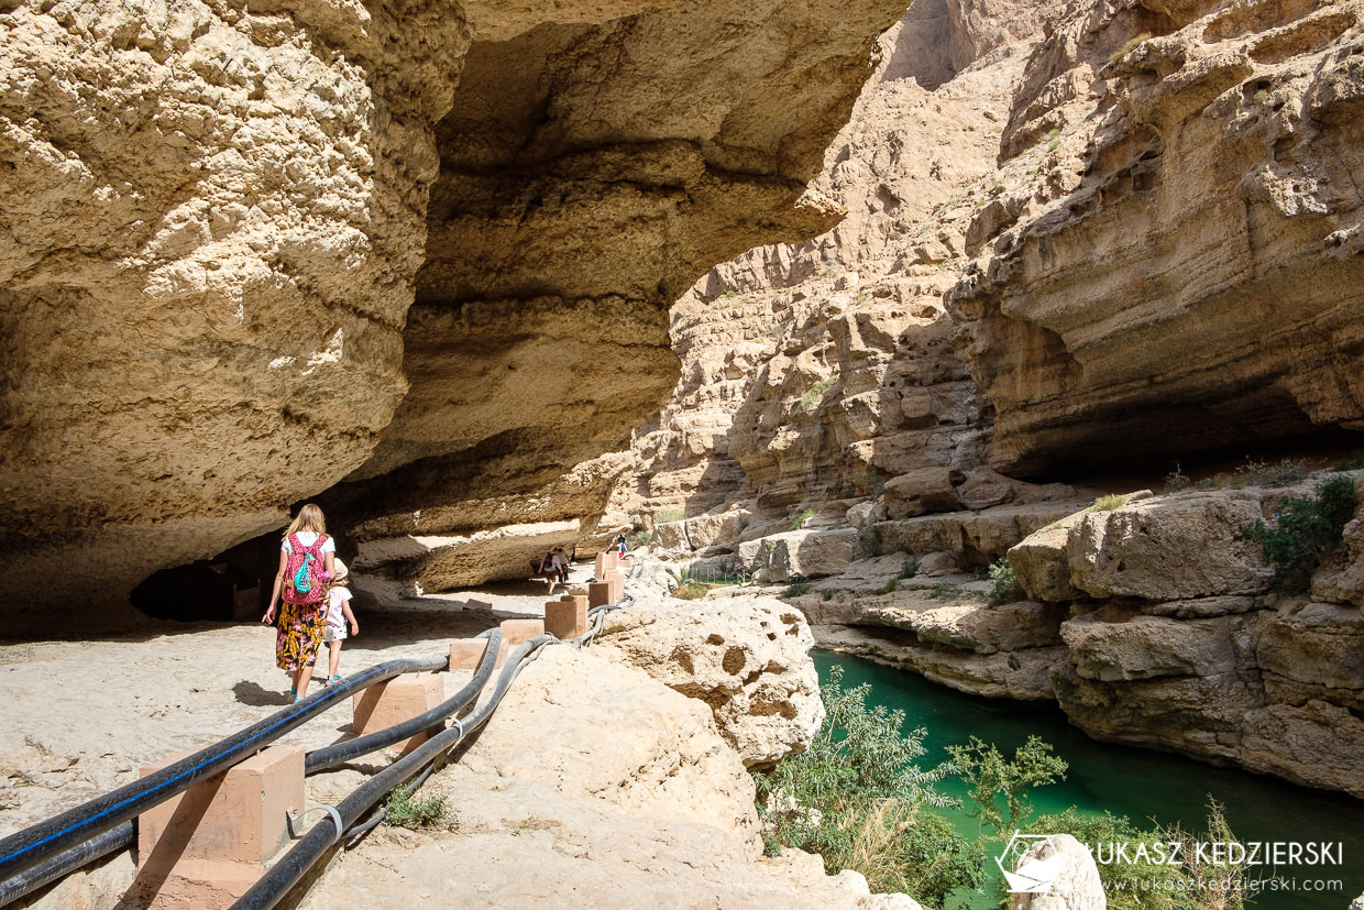
[[[780,600],[641,600],[607,614],[597,644],[708,704],[749,767],[803,752],[824,722],[814,639]]]

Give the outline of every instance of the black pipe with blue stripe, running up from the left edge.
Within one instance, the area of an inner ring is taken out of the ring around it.
[[[487,634],[487,633],[484,633]],[[74,809],[29,825],[0,840],[0,888],[22,872],[56,857],[74,845],[109,831],[154,805],[165,802],[195,783],[250,757],[267,742],[299,727],[352,692],[383,682],[404,673],[445,670],[449,655],[439,658],[389,660],[370,667],[336,686],[308,696],[303,701],[278,711],[265,720],[239,730],[206,749],[180,759],[161,771],[83,802]]]

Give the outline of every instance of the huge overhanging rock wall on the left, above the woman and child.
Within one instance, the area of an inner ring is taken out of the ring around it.
[[[805,183],[902,14],[5,4],[7,608],[340,482],[367,538],[591,514],[537,494],[656,409],[701,273],[836,221]]]

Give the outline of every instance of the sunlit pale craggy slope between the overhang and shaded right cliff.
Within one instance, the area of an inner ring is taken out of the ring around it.
[[[813,183],[848,214],[813,241],[716,266],[682,296],[682,377],[637,435],[607,524],[738,501],[782,518],[982,463],[990,415],[941,297],[968,255],[971,196],[998,195],[997,130],[1054,5],[930,0],[883,35],[877,74]],[[988,487],[971,483],[968,508],[1011,501]]]

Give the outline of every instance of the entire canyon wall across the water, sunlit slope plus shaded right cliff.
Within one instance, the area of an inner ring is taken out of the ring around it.
[[[814,183],[848,216],[675,307],[682,379],[607,524],[1364,428],[1359,19],[917,5]]]

